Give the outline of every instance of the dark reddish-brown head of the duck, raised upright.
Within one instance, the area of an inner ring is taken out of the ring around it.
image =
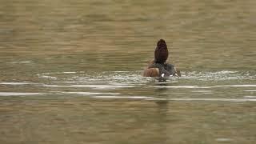
[[[168,49],[166,42],[163,39],[158,41],[157,47],[154,50],[154,60],[156,63],[164,63],[168,58]]]

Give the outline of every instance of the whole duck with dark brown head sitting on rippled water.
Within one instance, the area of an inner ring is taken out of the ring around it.
[[[167,63],[166,60],[169,56],[169,51],[164,39],[157,42],[154,50],[154,59],[151,60],[144,69],[144,77],[158,77],[166,78],[170,76],[181,77],[181,72],[173,64]]]

